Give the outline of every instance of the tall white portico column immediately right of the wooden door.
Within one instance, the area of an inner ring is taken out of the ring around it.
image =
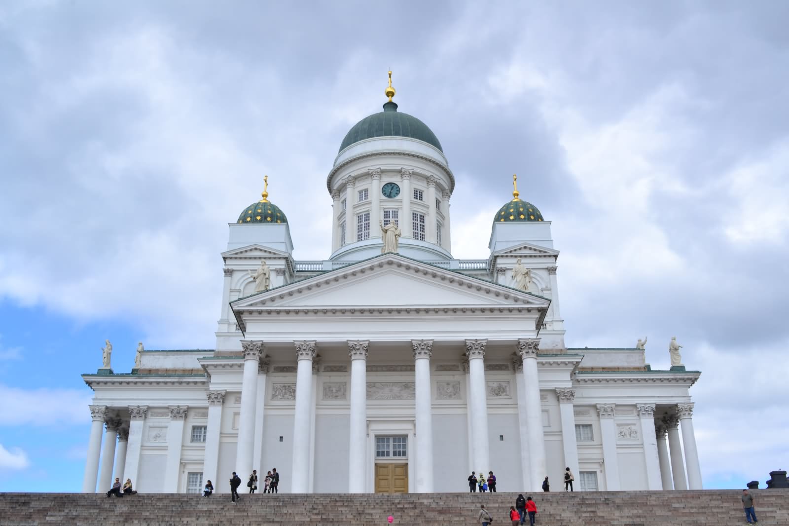
[[[433,492],[433,400],[430,383],[432,340],[411,340],[416,388],[417,493]]]

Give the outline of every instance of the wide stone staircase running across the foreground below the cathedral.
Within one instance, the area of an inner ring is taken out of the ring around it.
[[[759,524],[789,526],[789,490],[753,490]],[[728,526],[746,524],[742,490],[537,493],[537,526]],[[475,526],[480,504],[510,526],[518,494],[0,494],[0,526]],[[529,494],[524,494],[529,496]],[[528,522],[527,522],[528,524]]]

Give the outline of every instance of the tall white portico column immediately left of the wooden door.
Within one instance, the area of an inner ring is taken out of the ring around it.
[[[348,493],[365,493],[367,450],[368,341],[349,341],[350,434],[348,438]]]

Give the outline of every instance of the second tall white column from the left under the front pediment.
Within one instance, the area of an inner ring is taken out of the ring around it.
[[[315,358],[315,341],[297,341],[296,359],[296,408],[294,411],[293,468],[290,470],[291,493],[307,493],[309,482],[309,435],[312,429],[310,404],[312,402],[312,359]]]

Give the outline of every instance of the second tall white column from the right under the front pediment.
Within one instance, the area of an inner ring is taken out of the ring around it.
[[[488,445],[488,385],[485,383],[485,347],[488,340],[466,340],[469,357],[469,411],[471,413],[471,444],[473,471],[491,470]]]

